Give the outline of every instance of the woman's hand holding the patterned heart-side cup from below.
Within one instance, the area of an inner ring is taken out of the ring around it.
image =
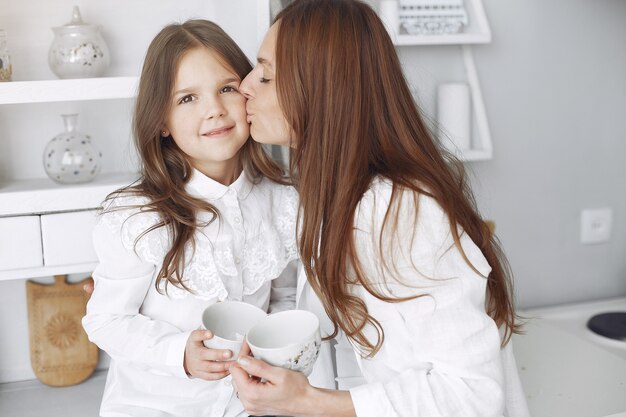
[[[239,355],[237,362],[232,363],[230,373],[233,388],[248,414],[297,416],[313,411],[307,410],[307,404],[315,388],[300,372]]]

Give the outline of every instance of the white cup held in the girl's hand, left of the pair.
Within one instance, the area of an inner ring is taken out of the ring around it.
[[[204,341],[204,346],[229,349],[236,359],[246,333],[265,316],[265,311],[241,301],[215,303],[202,313],[202,325],[213,333],[211,339]]]

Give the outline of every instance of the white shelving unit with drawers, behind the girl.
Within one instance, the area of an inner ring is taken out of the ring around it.
[[[4,150],[4,157],[0,159],[0,235],[3,235],[0,236],[0,281],[93,271],[96,259],[92,259],[94,254],[89,243],[92,226],[86,212],[95,213],[106,195],[138,177],[136,173],[129,172],[135,169],[132,162],[131,165],[124,164],[117,162],[118,159],[109,160],[109,170],[103,170],[96,180],[85,184],[57,184],[39,174],[35,164],[39,164],[40,159],[32,155],[40,155],[43,147],[40,143],[29,144],[30,138],[37,136],[35,139],[41,142],[39,137],[43,132],[46,132],[43,133],[44,138],[48,135],[51,138],[61,129],[60,124],[53,126],[52,122],[43,121],[48,114],[61,114],[67,109],[75,112],[73,109],[78,109],[85,114],[85,119],[89,121],[91,118],[92,123],[85,131],[98,136],[99,148],[105,158],[120,155],[123,152],[117,149],[132,147],[128,142],[124,143],[124,138],[130,139],[126,132],[130,131],[131,114],[120,109],[131,108],[129,103],[136,96],[137,73],[145,48],[161,27],[172,21],[182,22],[190,18],[214,20],[252,58],[269,20],[268,0],[255,3],[231,0],[228,4],[219,5],[203,0],[181,0],[160,10],[152,10],[149,0],[137,0],[132,5],[122,0],[111,0],[107,5],[80,5],[85,21],[99,24],[109,31],[105,39],[113,57],[117,52],[117,60],[112,60],[106,77],[61,80],[54,79],[45,57],[52,40],[49,28],[62,24],[63,19],[69,17],[73,5],[66,0],[62,2],[66,4],[57,4],[54,8],[42,6],[41,10],[33,11],[27,4],[33,3],[32,0],[24,3],[0,0],[3,11],[0,27],[13,35],[9,37],[9,52],[14,58],[14,81],[0,83],[0,124],[5,130],[0,138],[0,141],[5,141],[0,143]],[[56,11],[62,7],[67,9],[66,13],[51,16],[53,9]],[[146,11],[151,18],[142,21]],[[137,25],[139,21],[141,24]],[[125,53],[128,54],[126,61]],[[113,102],[115,100],[116,103]],[[120,116],[124,120],[119,120]],[[94,119],[98,121],[94,123]],[[38,124],[43,128],[34,129]],[[107,124],[125,127],[105,131],[93,127],[106,128]],[[113,138],[111,133],[107,137],[106,132],[115,132],[115,140],[107,140]],[[13,160],[8,152],[14,153],[17,158]],[[33,174],[40,177],[33,178]],[[21,226],[24,224],[28,224],[29,228],[25,230]],[[74,253],[81,249],[76,243],[76,236],[71,236],[72,233],[63,236],[64,230],[76,232],[77,229],[82,229],[84,235],[78,240],[84,242],[82,246],[89,247],[89,251],[83,251],[80,256]],[[16,241],[22,244],[22,249],[16,248]],[[24,250],[24,245],[28,250]],[[67,259],[64,263],[49,262],[53,257],[51,254],[57,252],[53,250],[53,245],[65,248]],[[90,251],[91,254],[88,253]]]

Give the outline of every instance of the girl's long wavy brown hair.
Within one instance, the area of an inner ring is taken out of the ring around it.
[[[178,64],[183,55],[194,48],[207,48],[215,52],[240,80],[252,69],[237,44],[213,22],[188,20],[183,24],[164,27],[148,47],[135,102],[133,133],[141,159],[141,176],[134,185],[107,197],[111,199],[119,194],[145,196],[149,203],[139,207],[141,211],[159,215],[160,221],[144,231],[135,243],[154,229],[168,228],[171,247],[157,275],[158,291],[163,291],[163,287],[167,290],[167,284],[187,288],[183,277],[185,246],[191,243],[195,249],[194,231],[201,226],[197,221],[197,213],[212,213],[211,222],[219,218],[219,212],[213,205],[185,191],[185,184],[193,172],[189,159],[171,136],[161,136],[163,121],[172,102]],[[251,138],[242,146],[239,156],[246,174],[253,181],[258,182],[265,176],[284,183],[282,169]]]

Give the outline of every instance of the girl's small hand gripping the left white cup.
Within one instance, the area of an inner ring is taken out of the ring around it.
[[[233,363],[228,361],[233,356],[230,350],[209,349],[202,343],[203,340],[211,339],[213,333],[210,330],[194,330],[187,339],[185,346],[185,372],[195,378],[215,381],[228,376],[228,368]]]

